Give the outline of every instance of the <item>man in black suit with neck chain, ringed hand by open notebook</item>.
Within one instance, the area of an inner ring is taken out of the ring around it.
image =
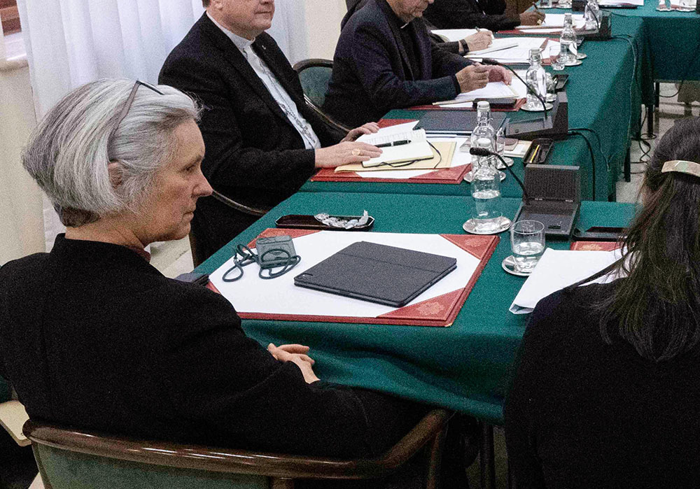
[[[202,171],[214,190],[244,206],[268,209],[296,192],[316,168],[379,155],[374,146],[354,141],[376,125],[344,136],[304,104],[297,74],[265,34],[274,0],[203,4],[207,12],[167,57],[158,80],[204,106]],[[192,223],[197,261],[257,219],[214,197],[200,199]]]

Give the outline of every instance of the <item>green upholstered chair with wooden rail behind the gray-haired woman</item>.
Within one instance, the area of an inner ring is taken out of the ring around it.
[[[377,458],[337,460],[144,441],[27,421],[46,489],[293,489],[295,479],[373,479],[426,446],[427,489],[437,488],[449,413],[435,409]]]

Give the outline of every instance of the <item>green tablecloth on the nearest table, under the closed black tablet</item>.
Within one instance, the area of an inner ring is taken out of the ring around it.
[[[280,215],[319,211],[347,215],[363,208],[376,219],[377,232],[461,234],[469,201],[468,197],[304,192],[276,206],[232,243],[247,243],[274,227]],[[518,203],[503,199],[504,214],[512,217]],[[624,226],[632,215],[631,204],[588,201],[582,205],[579,227]],[[510,369],[527,320],[507,311],[524,279],[501,269],[500,262],[510,255],[510,239],[507,233],[500,236],[451,327],[269,320],[244,320],[243,327],[262,344],[311,346],[314,368],[325,381],[390,392],[500,423]],[[568,247],[562,241],[547,244]],[[222,248],[197,271],[211,273],[228,260],[231,249]]]

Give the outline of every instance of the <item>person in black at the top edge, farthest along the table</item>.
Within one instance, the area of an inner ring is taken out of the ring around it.
[[[425,17],[437,29],[473,29],[507,31],[519,25],[536,25],[545,20],[539,10],[520,15],[505,15],[505,0],[437,0],[426,8]]]

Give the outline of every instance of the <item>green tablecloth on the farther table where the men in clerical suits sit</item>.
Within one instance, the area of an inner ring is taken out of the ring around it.
[[[581,66],[566,68],[570,75],[566,92],[569,99],[569,127],[593,129],[598,139],[587,134],[595,155],[595,166],[581,136],[570,136],[557,141],[547,162],[549,164],[579,165],[581,167],[581,195],[587,200],[608,200],[615,195],[615,182],[624,164],[629,147],[629,128],[639,122],[641,101],[652,99],[653,86],[647,64],[648,53],[643,21],[621,18],[614,25],[613,34],[629,36],[634,50],[624,39],[586,41],[582,52],[588,55]],[[635,56],[637,64],[635,67]],[[647,55],[645,55],[647,53]],[[636,80],[632,79],[633,72]],[[386,118],[418,119],[421,111],[391,111]],[[532,118],[531,113],[509,113],[513,120]],[[513,169],[522,177],[523,166],[516,159]],[[595,183],[595,185],[594,185]],[[595,191],[594,191],[595,187]],[[302,192],[372,192],[391,194],[468,195],[467,183],[459,185],[421,183],[338,183],[307,182]],[[504,197],[520,197],[521,190],[512,177],[503,182]]]

